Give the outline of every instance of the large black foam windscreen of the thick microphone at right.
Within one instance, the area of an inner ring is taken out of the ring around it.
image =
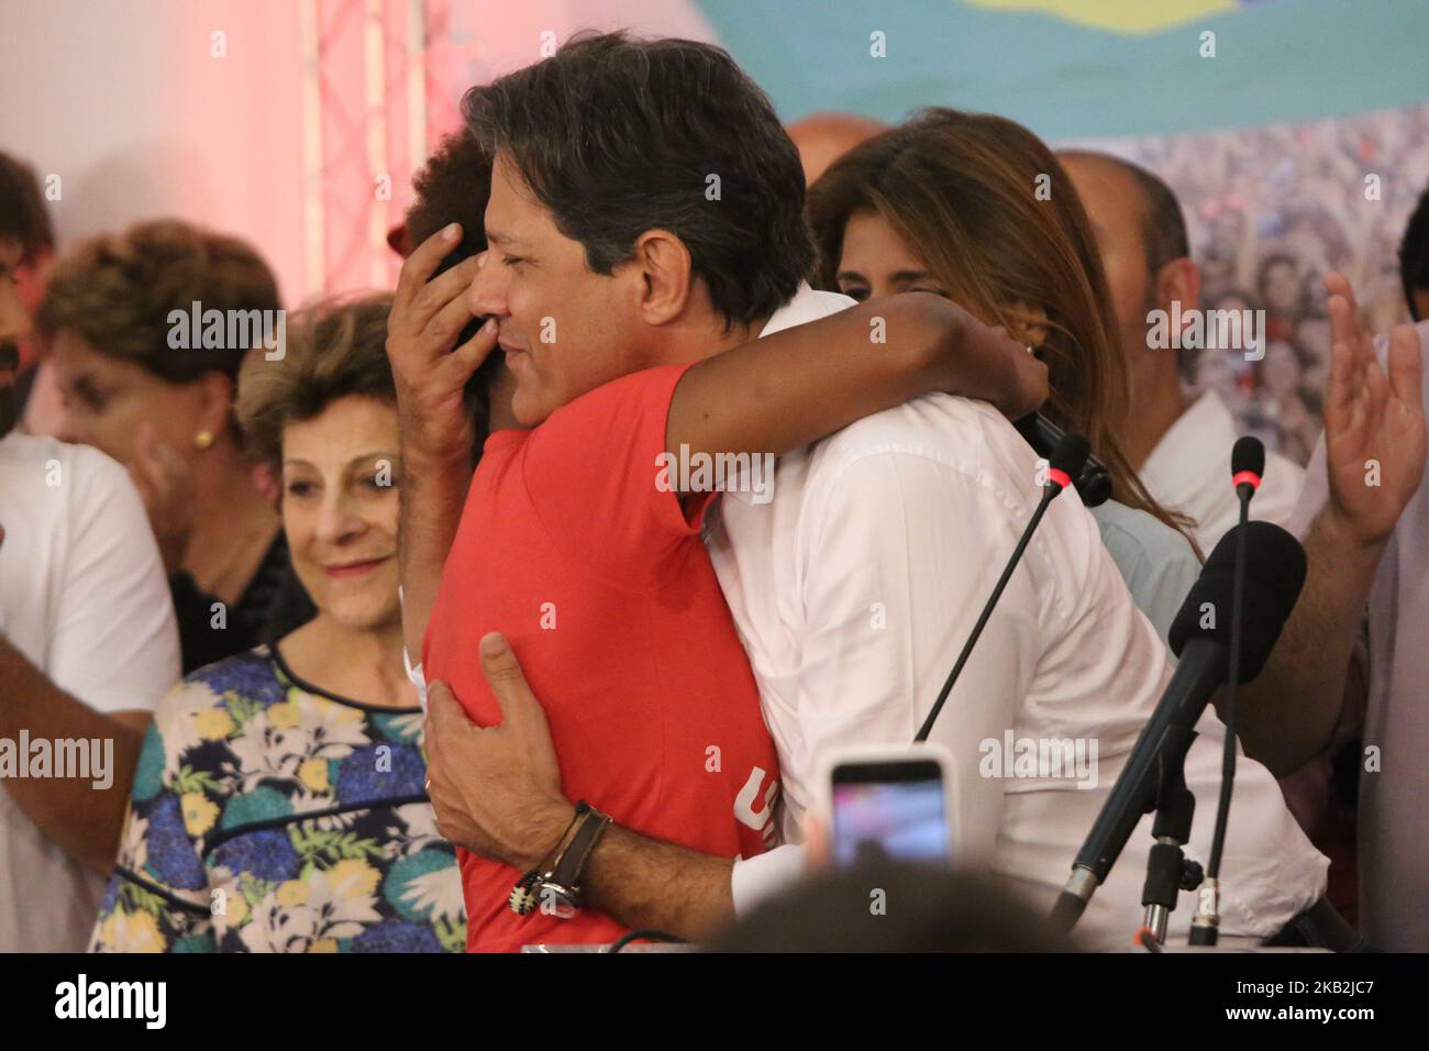
[[[1192,639],[1213,639],[1230,648],[1236,535],[1242,529],[1246,531],[1246,575],[1240,616],[1240,682],[1249,682],[1270,659],[1280,629],[1305,586],[1305,549],[1280,526],[1248,522],[1220,538],[1172,622],[1169,642],[1176,656]]]

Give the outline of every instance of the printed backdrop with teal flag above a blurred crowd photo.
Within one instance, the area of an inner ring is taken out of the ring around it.
[[[1136,160],[1176,190],[1202,306],[1265,309],[1265,357],[1205,352],[1240,425],[1305,462],[1322,423],[1320,276],[1375,327],[1408,316],[1405,222],[1429,182],[1426,0],[700,0],[796,120],[920,106],[1000,113]]]

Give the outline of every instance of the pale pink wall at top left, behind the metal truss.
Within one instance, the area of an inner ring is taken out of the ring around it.
[[[304,127],[304,6],[323,41],[317,139]],[[382,26],[376,106],[369,13]],[[416,82],[413,24],[427,34]],[[394,279],[382,233],[420,160],[413,113],[430,144],[456,126],[462,90],[536,61],[544,31],[713,39],[684,0],[6,0],[0,26],[0,149],[60,176],[63,243],[179,216],[253,242],[289,305]],[[416,107],[413,83],[426,86]],[[322,157],[306,203],[304,133]],[[380,173],[390,202],[374,192]]]

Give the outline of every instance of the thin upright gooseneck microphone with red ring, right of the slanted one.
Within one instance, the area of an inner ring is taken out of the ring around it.
[[[1259,438],[1236,439],[1230,449],[1230,483],[1236,488],[1240,502],[1240,525],[1250,520],[1250,498],[1260,488],[1265,473],[1265,445]],[[1220,928],[1220,855],[1226,845],[1226,828],[1230,822],[1230,794],[1236,782],[1236,685],[1240,668],[1240,628],[1245,619],[1245,571],[1246,535],[1240,529],[1236,538],[1235,576],[1230,595],[1230,651],[1228,653],[1226,692],[1222,698],[1222,716],[1226,725],[1226,744],[1220,756],[1220,795],[1216,801],[1216,827],[1210,839],[1210,861],[1198,895],[1196,915],[1190,921],[1192,945],[1215,945]]]

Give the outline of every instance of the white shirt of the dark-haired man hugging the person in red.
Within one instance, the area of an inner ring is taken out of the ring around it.
[[[765,335],[842,306],[807,295]],[[779,749],[787,841],[802,837],[825,749],[913,739],[1040,499],[1035,475],[1036,453],[997,412],[933,395],[783,456],[772,502],[720,498],[707,543]],[[990,864],[1050,908],[1169,678],[1156,629],[1069,490],[1049,508],[933,729],[953,756],[959,857]],[[1203,861],[1223,736],[1210,709],[1199,729],[1186,762],[1198,799],[1187,854]],[[1095,741],[1095,786],[983,776],[983,742],[1002,745],[1009,732],[1082,739],[1087,754]],[[1090,947],[1130,944],[1150,842],[1146,818],[1082,918]],[[736,862],[736,909],[797,872],[796,851]],[[1328,867],[1270,774],[1242,758],[1222,931],[1275,934],[1323,894]],[[1173,934],[1185,935],[1190,914],[1187,895]]]

